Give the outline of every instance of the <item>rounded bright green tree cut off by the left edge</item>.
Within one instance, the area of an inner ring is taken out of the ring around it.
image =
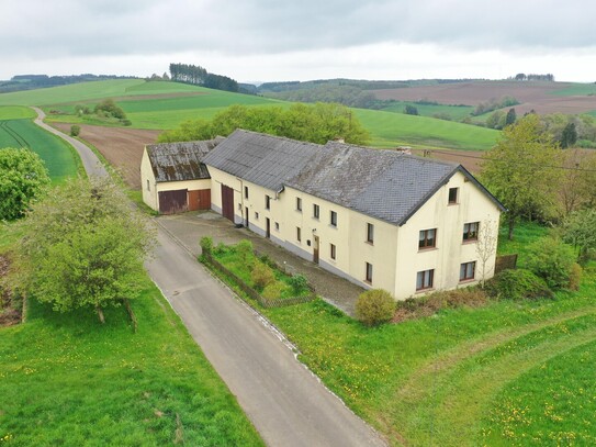
[[[44,163],[33,150],[0,148],[0,220],[22,217],[49,186]]]

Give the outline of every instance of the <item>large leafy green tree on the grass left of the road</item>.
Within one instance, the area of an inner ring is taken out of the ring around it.
[[[66,312],[103,309],[140,293],[143,261],[153,236],[146,219],[113,185],[66,182],[34,204],[23,221],[22,283],[41,302]]]

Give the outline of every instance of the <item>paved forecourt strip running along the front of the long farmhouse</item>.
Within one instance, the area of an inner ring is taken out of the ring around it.
[[[364,291],[361,287],[322,269],[246,228],[236,228],[232,222],[212,211],[162,215],[159,223],[175,235],[195,256],[200,254],[199,241],[211,236],[215,244],[236,244],[241,239],[252,242],[255,249],[284,266],[291,273],[304,275],[324,300],[350,316],[355,315],[356,300]]]

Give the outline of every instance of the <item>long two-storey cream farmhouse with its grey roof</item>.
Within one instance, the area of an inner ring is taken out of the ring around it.
[[[202,161],[212,210],[397,300],[482,279],[479,231],[504,211],[461,165],[395,150],[238,130]]]

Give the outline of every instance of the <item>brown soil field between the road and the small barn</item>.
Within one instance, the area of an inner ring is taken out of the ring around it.
[[[70,132],[67,123],[53,123],[65,133]],[[147,144],[154,144],[161,131],[140,128],[102,127],[98,125],[81,125],[79,137],[91,143],[105,159],[134,189],[140,189],[140,158]]]

